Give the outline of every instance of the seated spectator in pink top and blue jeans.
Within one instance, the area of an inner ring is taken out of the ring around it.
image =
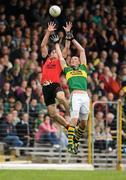
[[[44,116],[43,123],[39,126],[38,132],[35,135],[35,139],[40,143],[51,143],[52,145],[59,144],[59,140],[56,136],[57,129],[52,124],[48,114]]]

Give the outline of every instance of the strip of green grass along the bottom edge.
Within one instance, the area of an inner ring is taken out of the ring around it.
[[[0,170],[0,180],[126,180],[126,171]]]

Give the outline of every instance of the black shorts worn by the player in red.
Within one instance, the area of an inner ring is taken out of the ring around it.
[[[55,104],[57,92],[63,91],[59,83],[52,83],[47,86],[43,86],[42,89],[46,106]]]

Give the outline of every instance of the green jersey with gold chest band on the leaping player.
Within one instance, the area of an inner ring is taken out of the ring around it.
[[[84,64],[80,64],[77,68],[66,66],[64,73],[70,92],[73,90],[87,90],[87,68]]]

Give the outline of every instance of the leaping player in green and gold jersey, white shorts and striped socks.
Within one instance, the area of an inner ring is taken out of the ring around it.
[[[86,121],[88,120],[90,99],[87,94],[87,61],[84,48],[73,38],[71,32],[66,34],[66,38],[71,40],[79,51],[79,57],[73,56],[70,65],[67,66],[63,58],[58,36],[53,35],[56,52],[59,56],[61,67],[68,81],[70,96],[70,126],[68,128],[68,152],[76,154],[81,136],[85,130]],[[79,120],[79,125],[76,128]],[[76,130],[75,130],[76,128]]]

